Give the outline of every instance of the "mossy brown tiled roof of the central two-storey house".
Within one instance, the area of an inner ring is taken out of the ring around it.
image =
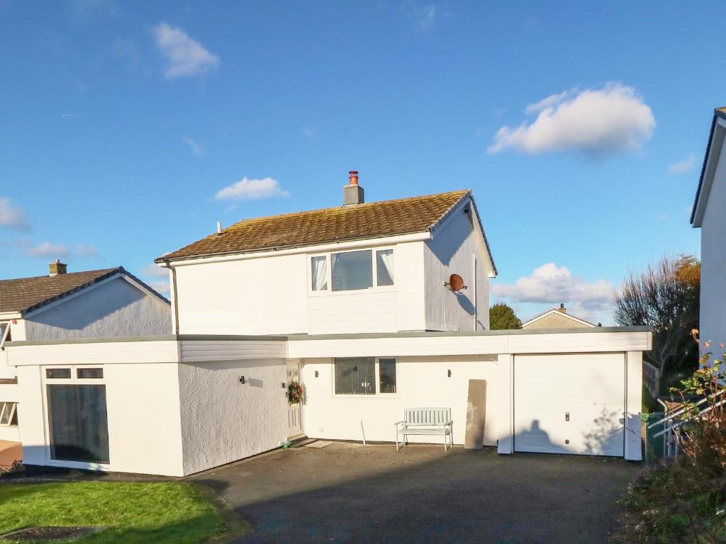
[[[469,191],[453,191],[245,219],[221,234],[212,234],[159,257],[156,262],[424,232],[468,194]]]

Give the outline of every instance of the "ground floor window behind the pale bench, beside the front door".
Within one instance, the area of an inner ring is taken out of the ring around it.
[[[334,360],[335,395],[396,393],[396,359],[339,357]]]

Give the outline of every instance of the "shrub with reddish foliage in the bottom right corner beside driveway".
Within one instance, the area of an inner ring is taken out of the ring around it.
[[[726,353],[710,359],[703,355],[702,368],[676,391],[685,408],[675,435],[682,455],[645,469],[629,485],[616,542],[726,543]]]

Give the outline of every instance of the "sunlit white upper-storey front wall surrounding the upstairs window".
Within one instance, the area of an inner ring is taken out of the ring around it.
[[[315,252],[179,265],[179,332],[344,334],[425,329],[423,242],[353,249],[376,247],[393,247],[392,287],[311,292],[309,263]]]

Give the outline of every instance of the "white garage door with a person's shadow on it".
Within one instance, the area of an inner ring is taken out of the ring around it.
[[[625,354],[516,355],[515,451],[623,456]]]

